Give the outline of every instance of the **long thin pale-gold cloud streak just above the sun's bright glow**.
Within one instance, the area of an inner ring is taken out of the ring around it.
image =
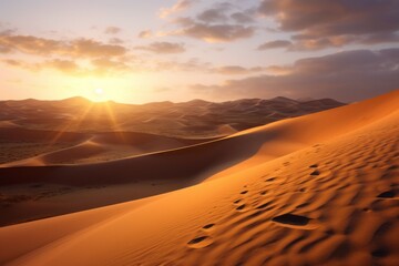
[[[157,52],[160,52],[157,50]],[[120,75],[139,72],[201,72],[212,75],[248,75],[268,71],[268,68],[241,65],[215,66],[209,62],[204,62],[197,58],[188,60],[144,60],[143,58],[95,58],[91,60],[78,59],[51,59],[41,58],[35,61],[3,59],[0,62],[13,68],[29,71],[55,70],[69,75]]]

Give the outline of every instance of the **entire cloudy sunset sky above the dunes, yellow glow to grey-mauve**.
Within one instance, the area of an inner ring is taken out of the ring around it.
[[[0,100],[354,102],[398,43],[397,0],[0,0]]]

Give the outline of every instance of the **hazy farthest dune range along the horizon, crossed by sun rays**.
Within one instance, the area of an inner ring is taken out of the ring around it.
[[[83,98],[72,98],[63,101],[3,101],[0,102],[0,121],[31,130],[143,132],[198,139],[225,136],[234,131],[341,105],[344,103],[328,99],[306,102],[285,98],[244,99],[222,103],[194,100],[134,105],[92,103]],[[270,113],[275,115],[269,116]],[[228,127],[231,130],[226,131]]]

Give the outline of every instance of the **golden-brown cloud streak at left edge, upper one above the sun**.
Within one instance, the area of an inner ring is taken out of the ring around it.
[[[69,58],[121,57],[127,52],[122,45],[106,44],[92,39],[54,40],[34,35],[0,34],[0,52],[21,52],[34,55]]]

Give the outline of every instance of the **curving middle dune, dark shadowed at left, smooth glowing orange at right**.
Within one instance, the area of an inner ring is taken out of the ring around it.
[[[307,116],[242,131],[195,147],[176,149],[145,156],[106,163],[49,166],[0,167],[1,185],[25,182],[53,182],[66,185],[124,183],[151,178],[209,176],[259,153],[278,157],[310,144],[356,130],[397,111],[393,92],[370,101],[355,103]],[[370,105],[372,110],[365,112]],[[187,162],[182,165],[182,162]],[[157,167],[153,167],[156,164]],[[205,172],[204,172],[205,170]],[[132,173],[126,175],[125,173]],[[29,175],[27,173],[30,173]],[[134,173],[134,174],[133,174]]]

